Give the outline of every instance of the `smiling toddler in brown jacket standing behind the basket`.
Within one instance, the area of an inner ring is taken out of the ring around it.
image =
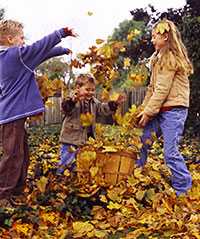
[[[95,98],[95,79],[90,74],[81,74],[75,80],[73,96],[62,102],[65,118],[60,133],[60,162],[57,173],[66,167],[73,168],[77,150],[89,137],[95,137],[96,114],[110,115],[124,100],[101,103]],[[86,117],[85,117],[86,116]],[[85,117],[85,120],[84,120]]]

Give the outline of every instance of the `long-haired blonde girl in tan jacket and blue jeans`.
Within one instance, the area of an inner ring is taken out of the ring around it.
[[[150,58],[152,75],[142,104],[144,110],[138,115],[139,126],[144,127],[144,133],[137,164],[143,166],[146,163],[152,132],[158,136],[162,133],[164,157],[171,171],[172,187],[180,195],[192,185],[190,172],[178,150],[178,144],[188,114],[188,76],[193,72],[193,67],[180,32],[173,22],[157,22],[152,30],[152,43],[155,47]]]

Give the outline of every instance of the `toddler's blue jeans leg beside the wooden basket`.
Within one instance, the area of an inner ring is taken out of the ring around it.
[[[72,147],[73,152],[72,152]],[[60,161],[58,163],[57,173],[62,174],[66,168],[74,169],[74,160],[76,158],[78,147],[73,144],[61,144],[60,147]]]

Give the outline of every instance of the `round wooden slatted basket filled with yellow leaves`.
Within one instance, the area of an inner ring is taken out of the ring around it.
[[[95,183],[99,186],[115,185],[133,172],[136,153],[129,152],[96,152],[96,160],[87,164],[81,163],[82,151],[77,156],[78,180],[84,183]],[[97,167],[95,177],[91,176],[91,167]]]

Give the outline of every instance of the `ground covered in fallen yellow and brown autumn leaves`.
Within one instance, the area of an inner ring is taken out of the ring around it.
[[[143,170],[82,197],[75,172],[56,175],[59,127],[36,127],[29,133],[27,206],[0,209],[0,238],[200,238],[199,139],[186,137],[181,145],[193,177],[186,196],[177,198],[170,187],[162,142],[157,142]]]

